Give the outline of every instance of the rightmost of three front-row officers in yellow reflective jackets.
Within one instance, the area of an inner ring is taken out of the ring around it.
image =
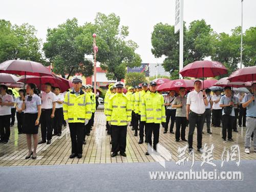
[[[155,81],[150,83],[150,92],[143,96],[140,111],[141,121],[146,122],[147,143],[152,146],[153,132],[153,148],[157,151],[160,123],[165,122],[165,108],[162,95],[157,93],[157,83]],[[148,152],[146,152],[146,155],[149,155]]]

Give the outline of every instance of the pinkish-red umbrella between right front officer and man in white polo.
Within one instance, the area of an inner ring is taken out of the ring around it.
[[[190,90],[194,88],[194,81],[190,79],[176,79],[166,83],[161,84],[157,87],[157,91],[171,91],[175,90],[178,92],[181,87]]]

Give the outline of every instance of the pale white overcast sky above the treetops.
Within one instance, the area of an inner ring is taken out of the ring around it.
[[[159,22],[174,25],[175,0],[6,0],[1,1],[0,18],[12,24],[29,23],[46,39],[47,28],[76,17],[80,25],[93,22],[97,12],[114,12],[121,25],[129,26],[129,38],[137,42],[143,62],[161,62],[151,53],[151,33]],[[244,30],[256,26],[256,0],[244,0]],[[184,21],[206,20],[218,33],[230,33],[241,25],[241,0],[184,0]]]

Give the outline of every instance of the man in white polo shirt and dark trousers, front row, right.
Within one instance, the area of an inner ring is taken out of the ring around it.
[[[186,116],[189,120],[189,131],[188,131],[188,152],[193,151],[193,134],[195,126],[197,125],[197,151],[203,153],[202,148],[202,131],[203,131],[203,120],[205,106],[208,105],[208,100],[205,91],[201,92],[202,82],[196,80],[194,82],[194,91],[191,91],[187,95],[187,111]],[[190,112],[190,113],[189,113]]]

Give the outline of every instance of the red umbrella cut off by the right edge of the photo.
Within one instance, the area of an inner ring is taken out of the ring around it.
[[[228,78],[230,82],[247,82],[256,80],[256,66],[246,67],[233,72]]]

